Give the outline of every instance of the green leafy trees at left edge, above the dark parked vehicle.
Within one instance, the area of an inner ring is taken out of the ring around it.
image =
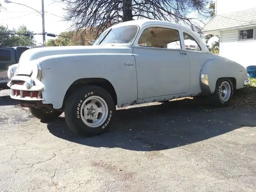
[[[9,35],[10,33],[29,34],[24,35]],[[22,25],[18,29],[8,29],[8,26],[0,25],[0,46],[30,46],[35,45],[33,32]]]

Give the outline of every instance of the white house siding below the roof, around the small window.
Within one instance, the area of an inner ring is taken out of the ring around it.
[[[238,41],[238,30],[222,31],[220,56],[238,62],[244,67],[256,65],[256,40]]]

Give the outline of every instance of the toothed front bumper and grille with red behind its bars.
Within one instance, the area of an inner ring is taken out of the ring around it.
[[[38,79],[32,79],[28,76],[14,76],[8,82],[8,87],[12,92],[10,97],[16,100],[42,101],[42,91],[44,85]]]

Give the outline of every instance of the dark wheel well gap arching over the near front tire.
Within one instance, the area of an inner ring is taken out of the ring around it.
[[[67,98],[74,92],[74,90],[85,85],[95,85],[104,88],[111,95],[112,99],[114,100],[114,104],[117,105],[116,91],[108,80],[104,78],[82,78],[76,80],[74,83],[72,83],[72,85],[70,85],[64,96],[62,108],[64,108]]]

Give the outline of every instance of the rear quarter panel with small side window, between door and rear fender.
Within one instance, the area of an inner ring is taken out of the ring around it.
[[[184,46],[190,60],[190,93],[196,95],[201,92],[200,73],[204,64],[215,58],[210,52],[200,47],[200,40],[187,30],[181,29]],[[202,45],[203,46],[203,45]]]

